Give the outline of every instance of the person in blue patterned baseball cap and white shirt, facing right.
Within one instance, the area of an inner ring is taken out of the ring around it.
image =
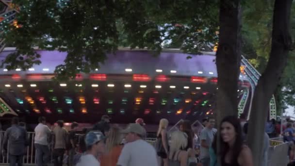
[[[98,131],[91,131],[86,134],[86,154],[82,155],[76,166],[100,166],[97,160],[98,153],[104,152],[105,136]]]

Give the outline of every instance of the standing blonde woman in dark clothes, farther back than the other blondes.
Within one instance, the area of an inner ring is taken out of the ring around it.
[[[167,119],[161,119],[159,129],[157,133],[156,150],[159,157],[161,157],[161,163],[164,166],[168,166],[168,137],[167,137]],[[161,164],[162,166],[162,164]]]

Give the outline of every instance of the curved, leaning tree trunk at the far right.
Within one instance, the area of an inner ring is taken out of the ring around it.
[[[269,60],[255,88],[247,140],[253,154],[254,166],[261,166],[263,134],[269,101],[286,66],[291,49],[290,13],[292,0],[276,0],[273,16],[272,45]]]

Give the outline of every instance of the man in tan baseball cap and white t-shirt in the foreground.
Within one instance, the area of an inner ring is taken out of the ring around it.
[[[121,151],[117,166],[158,166],[156,150],[143,140],[146,130],[137,123],[131,123],[125,130],[127,143]]]

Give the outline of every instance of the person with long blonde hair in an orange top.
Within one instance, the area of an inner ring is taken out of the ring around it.
[[[123,149],[120,128],[112,127],[106,140],[106,153],[101,157],[100,166],[116,166]]]

